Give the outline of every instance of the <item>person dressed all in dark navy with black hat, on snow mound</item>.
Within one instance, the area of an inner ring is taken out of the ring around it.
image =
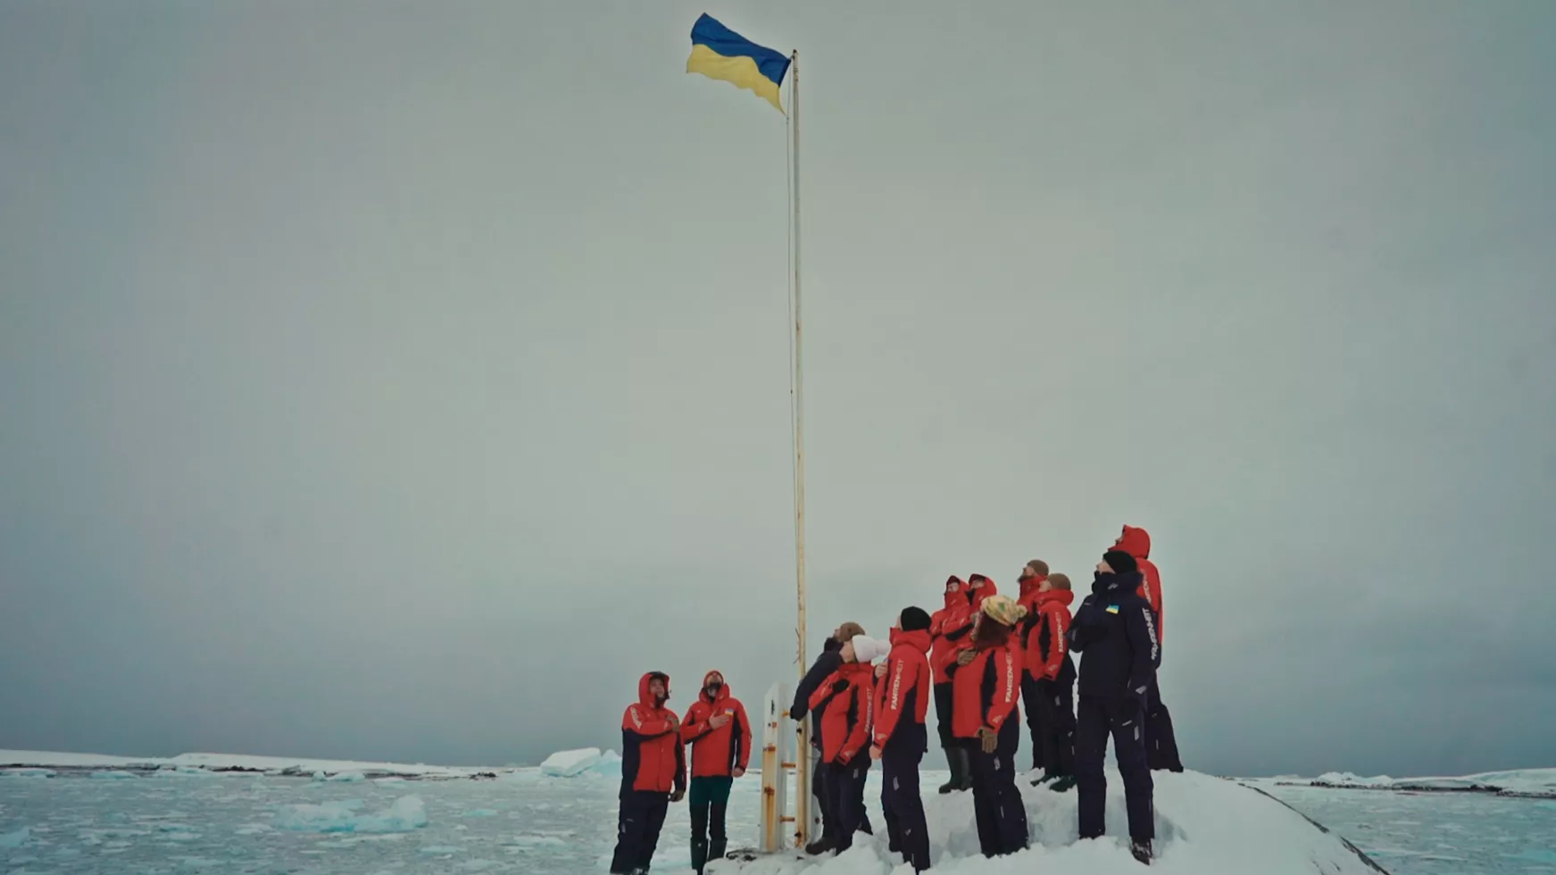
[[[1151,606],[1139,589],[1141,571],[1133,556],[1122,550],[1103,554],[1091,595],[1075,612],[1069,641],[1081,654],[1075,708],[1080,838],[1095,839],[1106,831],[1108,778],[1102,761],[1113,735],[1130,813],[1130,852],[1150,866],[1156,828],[1144,722],[1145,693],[1161,663],[1161,643]]]

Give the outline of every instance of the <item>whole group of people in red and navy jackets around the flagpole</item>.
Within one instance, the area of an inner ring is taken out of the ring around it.
[[[1123,526],[1092,575],[1091,593],[1071,613],[1066,575],[1041,559],[1019,576],[1019,596],[993,579],[946,581],[932,615],[904,607],[890,640],[857,623],[840,624],[795,691],[789,716],[811,719],[812,792],[822,836],[811,855],[843,852],[871,833],[865,778],[881,761],[881,808],[888,849],[915,872],[930,867],[920,794],[934,701],[937,736],[951,780],[940,792],[972,791],[985,856],[1029,845],[1027,811],[1016,786],[1021,719],[1032,738],[1035,786],[1077,789],[1080,838],[1105,833],[1103,757],[1111,735],[1123,777],[1131,853],[1151,861],[1153,769],[1183,771],[1172,716],[1161,702],[1162,589],[1150,560],[1150,534]],[[1081,654],[1075,669],[1072,652]],[[1077,701],[1078,688],[1078,701]],[[644,674],[638,702],[622,718],[622,785],[612,872],[641,875],[658,844],[671,802],[686,794],[691,755],[692,867],[725,852],[731,782],[745,774],[752,727],[724,676],[708,673],[685,719],[666,708],[669,676]]]

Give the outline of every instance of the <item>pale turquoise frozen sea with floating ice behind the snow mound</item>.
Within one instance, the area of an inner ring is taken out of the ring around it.
[[[615,841],[616,782],[601,775],[100,774],[0,777],[0,875],[580,873],[604,872]],[[731,847],[756,838],[758,778],[736,786]],[[1260,786],[1396,875],[1556,872],[1551,800]],[[686,836],[672,806],[655,872],[688,872]]]

